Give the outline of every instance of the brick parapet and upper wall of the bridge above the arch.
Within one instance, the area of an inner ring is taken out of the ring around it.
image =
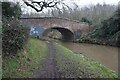
[[[90,26],[87,23],[82,23],[76,20],[57,18],[57,17],[37,17],[37,18],[20,18],[20,19],[22,23],[28,27],[30,25],[38,25],[38,27],[43,27],[44,29],[48,29],[57,26],[60,28],[68,29],[72,33],[81,31],[81,35],[85,35],[90,31]]]

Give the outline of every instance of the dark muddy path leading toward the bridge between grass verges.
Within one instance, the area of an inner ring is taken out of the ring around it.
[[[52,42],[46,42],[48,45],[48,56],[43,65],[43,69],[37,69],[33,71],[33,77],[35,78],[60,78],[60,73],[58,72],[55,54],[56,49]]]

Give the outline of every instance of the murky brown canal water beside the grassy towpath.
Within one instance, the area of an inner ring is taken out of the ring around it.
[[[104,66],[118,72],[118,48],[86,43],[58,42],[70,50],[82,53]]]

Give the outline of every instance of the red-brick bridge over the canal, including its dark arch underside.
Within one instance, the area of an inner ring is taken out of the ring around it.
[[[63,40],[77,39],[80,35],[85,35],[90,31],[90,26],[87,23],[64,18],[21,18],[21,21],[28,27],[37,26],[43,28],[43,33],[48,29],[56,29],[62,34]]]

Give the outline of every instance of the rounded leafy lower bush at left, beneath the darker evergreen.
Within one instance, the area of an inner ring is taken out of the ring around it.
[[[8,21],[3,23],[2,31],[3,56],[17,54],[27,41],[28,29],[19,21],[12,20],[9,23]]]

